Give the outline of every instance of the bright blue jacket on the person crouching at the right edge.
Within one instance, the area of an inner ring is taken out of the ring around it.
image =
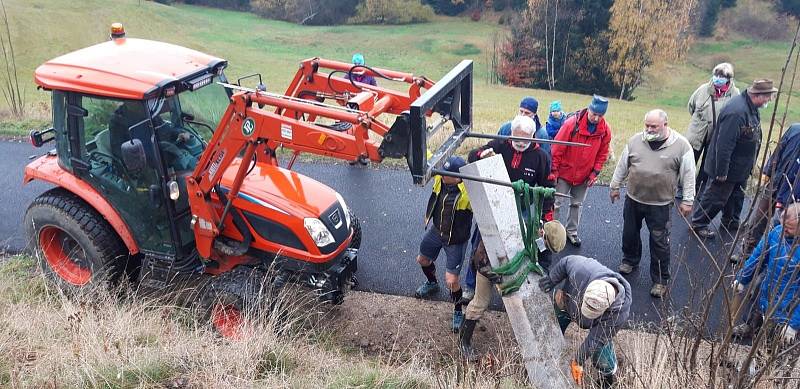
[[[771,299],[777,299],[784,291],[786,295],[779,301],[778,308],[775,310],[773,320],[777,324],[786,324],[800,330],[800,309],[789,309],[794,305],[793,300],[800,297],[800,250],[794,250],[791,258],[788,254],[792,244],[786,239],[781,239],[783,226],[775,227],[769,235],[761,238],[753,254],[747,259],[744,268],[739,271],[736,279],[742,285],[749,285],[753,281],[756,273],[764,272],[764,281],[761,283],[761,290],[758,295],[758,304],[761,312],[766,313],[769,309]],[[797,238],[795,238],[797,239]],[[761,255],[766,251],[764,261]],[[786,269],[784,270],[784,267]],[[798,274],[793,274],[798,272]],[[794,275],[794,277],[792,277]],[[791,282],[790,282],[791,281]]]

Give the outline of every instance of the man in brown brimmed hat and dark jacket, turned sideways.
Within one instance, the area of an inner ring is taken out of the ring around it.
[[[739,228],[743,187],[761,145],[758,110],[767,106],[775,92],[771,80],[756,80],[746,93],[733,97],[722,108],[704,165],[709,182],[704,185],[692,214],[692,228],[700,238],[714,238],[716,234],[708,225],[720,211],[722,228],[729,231]]]

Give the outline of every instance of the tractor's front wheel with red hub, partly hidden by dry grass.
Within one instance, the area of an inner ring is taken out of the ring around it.
[[[267,277],[261,270],[239,266],[212,278],[200,298],[201,316],[214,332],[238,339],[246,323],[267,306]]]

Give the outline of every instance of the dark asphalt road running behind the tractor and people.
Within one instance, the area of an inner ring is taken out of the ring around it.
[[[24,166],[29,156],[41,154],[28,143],[0,142],[0,160],[5,174],[0,175],[0,250],[19,252],[26,245],[22,218],[27,205],[48,188],[42,183],[22,185]],[[297,163],[295,170],[315,178],[339,191],[359,216],[363,228],[363,243],[359,253],[359,289],[410,296],[424,280],[415,262],[423,233],[424,208],[429,188],[412,185],[405,170],[389,168],[351,167],[346,163]],[[746,209],[746,208],[745,208]],[[634,290],[633,319],[638,322],[659,322],[661,318],[685,312],[696,312],[702,292],[716,279],[719,270],[714,261],[689,236],[684,220],[673,212],[672,218],[673,283],[669,297],[654,300],[649,295],[651,281],[648,272],[649,255],[647,230],[642,231],[644,259],[642,267],[628,276]],[[725,234],[721,234],[725,235]],[[583,247],[567,249],[554,257],[580,253],[598,259],[606,266],[619,266],[622,236],[622,202],[611,204],[608,188],[598,186],[589,191],[581,220]],[[712,255],[727,249],[719,239],[706,242]],[[444,259],[437,266],[440,281],[444,280]],[[724,267],[720,263],[719,267]],[[438,296],[446,299],[444,287]],[[499,307],[499,299],[494,306]],[[719,305],[719,304],[717,304]],[[717,316],[714,314],[713,316]]]

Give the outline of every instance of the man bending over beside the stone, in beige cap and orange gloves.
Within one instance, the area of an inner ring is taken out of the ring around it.
[[[628,281],[592,258],[568,255],[539,279],[539,286],[546,293],[555,288],[553,303],[562,333],[572,322],[589,330],[570,363],[575,382],[582,385],[583,364],[591,357],[603,385],[613,384],[617,372],[613,339],[628,320],[633,301]]]

